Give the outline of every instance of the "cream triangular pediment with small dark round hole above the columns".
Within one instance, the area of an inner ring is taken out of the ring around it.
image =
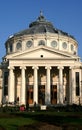
[[[64,58],[73,58],[71,55],[67,53],[60,52],[58,50],[49,48],[49,47],[36,47],[29,49],[27,51],[14,53],[8,56],[9,59],[64,59]]]

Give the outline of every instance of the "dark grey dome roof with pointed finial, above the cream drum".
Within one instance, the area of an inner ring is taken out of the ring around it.
[[[56,29],[51,22],[45,19],[42,12],[40,12],[40,16],[37,18],[36,21],[29,24],[29,29],[15,33],[14,36],[22,36],[22,35],[30,35],[30,34],[44,34],[47,32],[57,33],[59,35],[65,35],[65,36],[70,36],[74,38],[68,33],[63,32],[62,30]]]

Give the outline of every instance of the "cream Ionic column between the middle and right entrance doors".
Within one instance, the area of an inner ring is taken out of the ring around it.
[[[46,72],[46,87],[45,87],[45,104],[51,103],[51,89],[50,89],[50,69],[51,67],[45,67],[47,69]]]

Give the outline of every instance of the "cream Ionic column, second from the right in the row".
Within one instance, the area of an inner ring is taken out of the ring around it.
[[[63,104],[63,67],[59,69],[59,103]]]

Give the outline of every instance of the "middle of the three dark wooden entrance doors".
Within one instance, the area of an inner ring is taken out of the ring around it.
[[[38,103],[45,104],[45,85],[38,86]]]

